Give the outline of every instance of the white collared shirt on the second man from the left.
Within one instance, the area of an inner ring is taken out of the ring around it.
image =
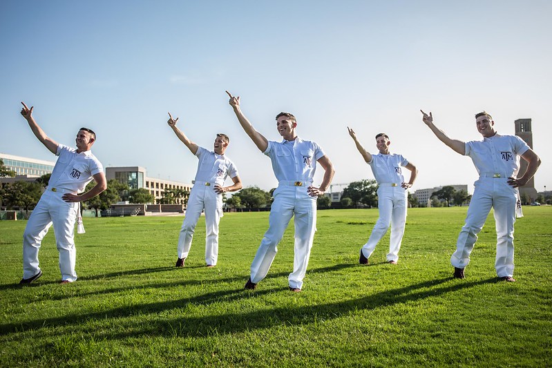
[[[225,155],[218,155],[213,151],[198,147],[196,156],[200,160],[196,172],[196,180],[198,181],[222,186],[228,176],[238,176],[238,169],[234,162],[231,162]]]

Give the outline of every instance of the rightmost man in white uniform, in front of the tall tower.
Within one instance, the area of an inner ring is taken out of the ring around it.
[[[456,251],[450,258],[450,263],[455,267],[454,277],[464,278],[464,268],[470,262],[470,253],[477,241],[477,234],[493,207],[497,231],[495,269],[501,280],[515,281],[513,233],[518,202],[517,187],[523,186],[535,175],[540,158],[520,137],[499,135],[495,130],[493,117],[485,111],[475,115],[475,125],[483,140],[466,143],[450,139],[437,128],[433,124],[432,113],[421,113],[423,122],[441,142],[460,155],[471,157],[479,174],[479,180],[474,183],[475,191],[466,215],[466,224],[460,231]],[[528,166],[522,177],[517,177],[520,156],[528,162]]]

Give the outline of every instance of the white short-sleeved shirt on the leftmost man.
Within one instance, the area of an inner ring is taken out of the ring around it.
[[[80,193],[91,182],[93,176],[104,172],[104,166],[92,151],[77,153],[75,148],[58,144],[58,156],[48,182],[48,188],[63,188]]]

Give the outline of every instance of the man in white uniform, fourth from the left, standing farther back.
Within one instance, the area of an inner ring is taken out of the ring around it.
[[[374,177],[379,185],[377,192],[379,219],[374,225],[374,229],[372,229],[368,242],[361,249],[359,263],[368,264],[368,258],[370,258],[379,240],[383,238],[383,235],[386,235],[389,225],[391,225],[387,262],[397,264],[406,223],[407,189],[416,180],[417,168],[402,155],[389,152],[391,141],[385,133],[376,135],[376,147],[379,153],[377,155],[370,155],[360,144],[359,140],[356,139],[354,130],[349,127],[347,129],[349,130],[349,135],[354,140],[356,149],[359,150],[364,161],[370,164],[372,173],[374,173]],[[410,170],[410,180],[408,180],[408,183],[404,182],[401,166]]]

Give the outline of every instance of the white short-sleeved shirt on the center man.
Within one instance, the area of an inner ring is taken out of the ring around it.
[[[272,170],[278,182],[312,182],[316,161],[325,156],[322,148],[312,141],[296,137],[293,141],[268,141],[265,155],[272,161]]]

